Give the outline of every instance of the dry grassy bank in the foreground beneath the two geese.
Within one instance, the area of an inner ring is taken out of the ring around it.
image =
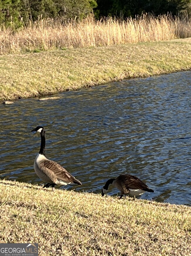
[[[0,180],[1,243],[39,255],[190,255],[191,208]]]

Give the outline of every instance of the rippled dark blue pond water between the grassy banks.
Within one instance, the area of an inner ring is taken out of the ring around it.
[[[131,79],[0,106],[0,178],[41,183],[33,170],[46,129],[46,156],[100,193],[108,178],[138,176],[141,198],[191,205],[191,71]],[[118,190],[111,189],[110,195]]]

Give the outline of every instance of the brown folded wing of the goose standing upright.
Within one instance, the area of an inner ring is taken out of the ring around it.
[[[46,172],[46,174],[51,173],[56,180],[59,179],[68,183],[76,180],[69,172],[66,171],[66,169],[52,160],[45,160],[42,162],[42,164],[44,172]],[[54,182],[56,182],[56,180]]]

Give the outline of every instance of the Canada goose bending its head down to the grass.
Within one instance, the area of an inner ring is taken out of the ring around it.
[[[129,194],[130,196],[133,196],[135,200],[135,195],[142,195],[146,191],[154,192],[154,190],[148,188],[148,186],[136,176],[124,174],[119,175],[116,179],[108,180],[101,189],[102,196],[107,193],[110,184],[114,185],[121,191],[119,199],[121,199],[124,194]]]

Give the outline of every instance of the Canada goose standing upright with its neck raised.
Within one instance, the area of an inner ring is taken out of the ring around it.
[[[82,185],[79,180],[76,180],[76,178],[67,172],[60,164],[46,158],[44,128],[37,126],[31,132],[33,131],[41,133],[41,147],[34,161],[34,170],[39,178],[47,182],[43,187],[52,186],[52,190],[54,190],[55,185],[67,185],[70,183]]]

